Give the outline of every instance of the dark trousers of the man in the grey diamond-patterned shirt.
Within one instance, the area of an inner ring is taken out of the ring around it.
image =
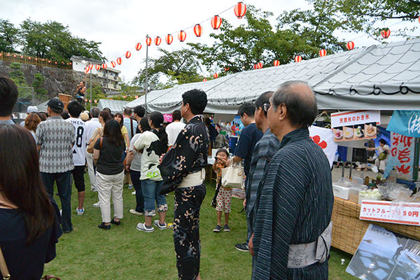
[[[59,200],[62,203],[62,229],[63,232],[69,232],[73,228],[71,224],[71,172],[41,172],[41,180],[51,197],[54,197],[54,182],[57,183]]]

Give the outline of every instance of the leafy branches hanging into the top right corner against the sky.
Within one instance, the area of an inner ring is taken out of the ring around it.
[[[380,39],[381,29],[386,20],[415,22],[419,18],[420,1],[416,0],[307,0],[314,8],[325,8],[343,23],[342,29],[353,32],[365,32],[372,38]],[[393,34],[409,37],[411,29],[392,27]]]

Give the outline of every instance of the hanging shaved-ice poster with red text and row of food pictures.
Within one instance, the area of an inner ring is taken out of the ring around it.
[[[374,139],[377,125],[380,124],[380,111],[359,110],[331,114],[335,142]]]

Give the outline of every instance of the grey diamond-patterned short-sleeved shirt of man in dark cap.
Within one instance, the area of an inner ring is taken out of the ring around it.
[[[39,171],[62,173],[74,169],[73,150],[76,134],[71,123],[60,116],[52,116],[36,127],[36,144],[39,151]]]

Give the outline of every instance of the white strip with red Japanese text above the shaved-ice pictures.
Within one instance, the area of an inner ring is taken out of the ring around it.
[[[347,111],[331,114],[331,127],[346,127],[365,123],[381,124],[381,111]]]

